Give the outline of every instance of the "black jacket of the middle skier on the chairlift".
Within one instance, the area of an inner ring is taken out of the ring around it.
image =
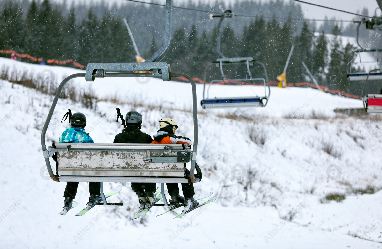
[[[135,125],[129,125],[114,138],[115,144],[150,144],[152,138]]]

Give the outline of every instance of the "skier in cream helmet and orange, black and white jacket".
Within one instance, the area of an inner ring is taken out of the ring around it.
[[[191,139],[188,137],[175,136],[175,131],[178,128],[178,124],[175,120],[171,118],[163,118],[159,121],[159,131],[157,134],[153,135],[154,141],[152,144],[187,144],[191,147]],[[189,174],[190,171],[186,169],[186,173]],[[169,205],[169,209],[175,206],[184,205],[183,212],[192,209],[199,205],[199,203],[193,198],[194,186],[193,183],[182,183],[183,196],[179,195],[178,183],[167,183],[167,191],[171,196],[172,203]]]

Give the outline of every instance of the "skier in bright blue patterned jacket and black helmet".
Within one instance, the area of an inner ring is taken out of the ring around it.
[[[69,109],[63,116],[63,120],[69,118],[70,126],[62,133],[59,142],[60,143],[94,143],[93,139],[85,132],[86,116],[81,112],[76,112],[73,115]],[[89,202],[94,203],[101,198],[100,183],[89,183]],[[64,192],[64,209],[69,210],[72,206],[73,199],[76,197],[78,188],[78,181],[68,181]]]

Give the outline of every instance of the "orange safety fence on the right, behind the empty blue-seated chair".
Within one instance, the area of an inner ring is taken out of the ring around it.
[[[181,78],[181,77],[174,77],[176,79],[179,79],[181,81],[187,81],[186,79],[184,78]],[[204,81],[202,81],[201,79],[199,78],[193,78],[193,80],[196,82],[196,83],[200,83],[200,84],[204,84]],[[248,84],[246,82],[243,82],[243,81],[230,81],[230,83],[234,83],[234,84],[238,84],[238,85],[248,85],[248,86],[264,86],[262,84]],[[209,82],[206,82],[206,84],[210,84]],[[216,83],[212,83],[213,85],[221,85],[221,84],[225,84],[225,82],[222,80],[220,82],[216,82]],[[278,85],[278,82],[274,82],[274,81],[269,81],[269,85],[270,86],[277,86]],[[295,87],[301,87],[301,86],[309,86],[309,87],[312,87],[312,88],[316,88],[317,89],[317,86],[315,84],[311,84],[309,82],[300,82],[300,83],[288,83],[287,86],[295,86]],[[359,97],[358,95],[352,95],[352,94],[347,94],[346,92],[342,92],[340,90],[330,90],[329,88],[327,88],[326,86],[319,86],[320,89],[322,89],[324,92],[329,92],[331,94],[341,94],[342,96],[345,96],[345,97],[349,97],[349,98],[353,98],[353,99],[362,99],[362,97]]]

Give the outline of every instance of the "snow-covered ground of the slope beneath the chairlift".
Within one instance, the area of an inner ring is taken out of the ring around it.
[[[1,65],[36,73],[50,69],[58,81],[83,72],[4,58],[0,58]],[[66,216],[57,214],[65,183],[47,179],[40,147],[40,129],[53,97],[19,85],[12,88],[6,81],[0,85],[0,120],[9,117],[0,127],[2,248],[382,247],[382,191],[378,191],[382,188],[382,124],[375,115],[347,118],[333,113],[337,107],[362,107],[359,100],[310,88],[271,87],[265,108],[202,113],[199,107],[197,162],[204,175],[202,182],[195,184],[196,196],[214,191],[217,200],[182,219],[172,219],[181,210],[155,217],[164,211],[155,207],[145,219],[133,222],[138,202],[130,184],[122,184],[122,191],[115,196],[115,201],[123,200],[123,207],[99,206],[75,217],[89,194],[87,184],[80,183],[76,196],[79,207]],[[156,132],[160,118],[172,117],[180,124],[178,134],[193,137],[188,83],[151,79],[138,84],[135,79],[105,78],[95,82],[75,79],[73,85],[79,89],[91,86],[105,101],[98,102],[97,110],[89,110],[81,103],[60,100],[47,144],[57,141],[66,128],[67,123],[59,121],[68,108],[86,114],[87,131],[95,142],[112,142],[121,126],[115,122],[117,105],[111,99],[125,103],[118,105],[124,113],[132,108],[141,112],[142,131],[148,134]],[[202,85],[197,91],[199,102]],[[210,96],[248,96],[252,91],[260,95],[264,89],[212,86]],[[312,118],[313,111],[319,119]],[[259,142],[261,137],[264,145]],[[247,171],[240,181],[231,175],[237,165]],[[328,179],[328,167],[329,173],[332,167],[339,167],[340,178]],[[116,185],[105,184],[105,191]],[[353,192],[367,186],[374,187],[376,193]],[[329,193],[345,194],[346,199],[322,204],[320,200]],[[293,218],[289,221],[285,217],[290,215]]]

